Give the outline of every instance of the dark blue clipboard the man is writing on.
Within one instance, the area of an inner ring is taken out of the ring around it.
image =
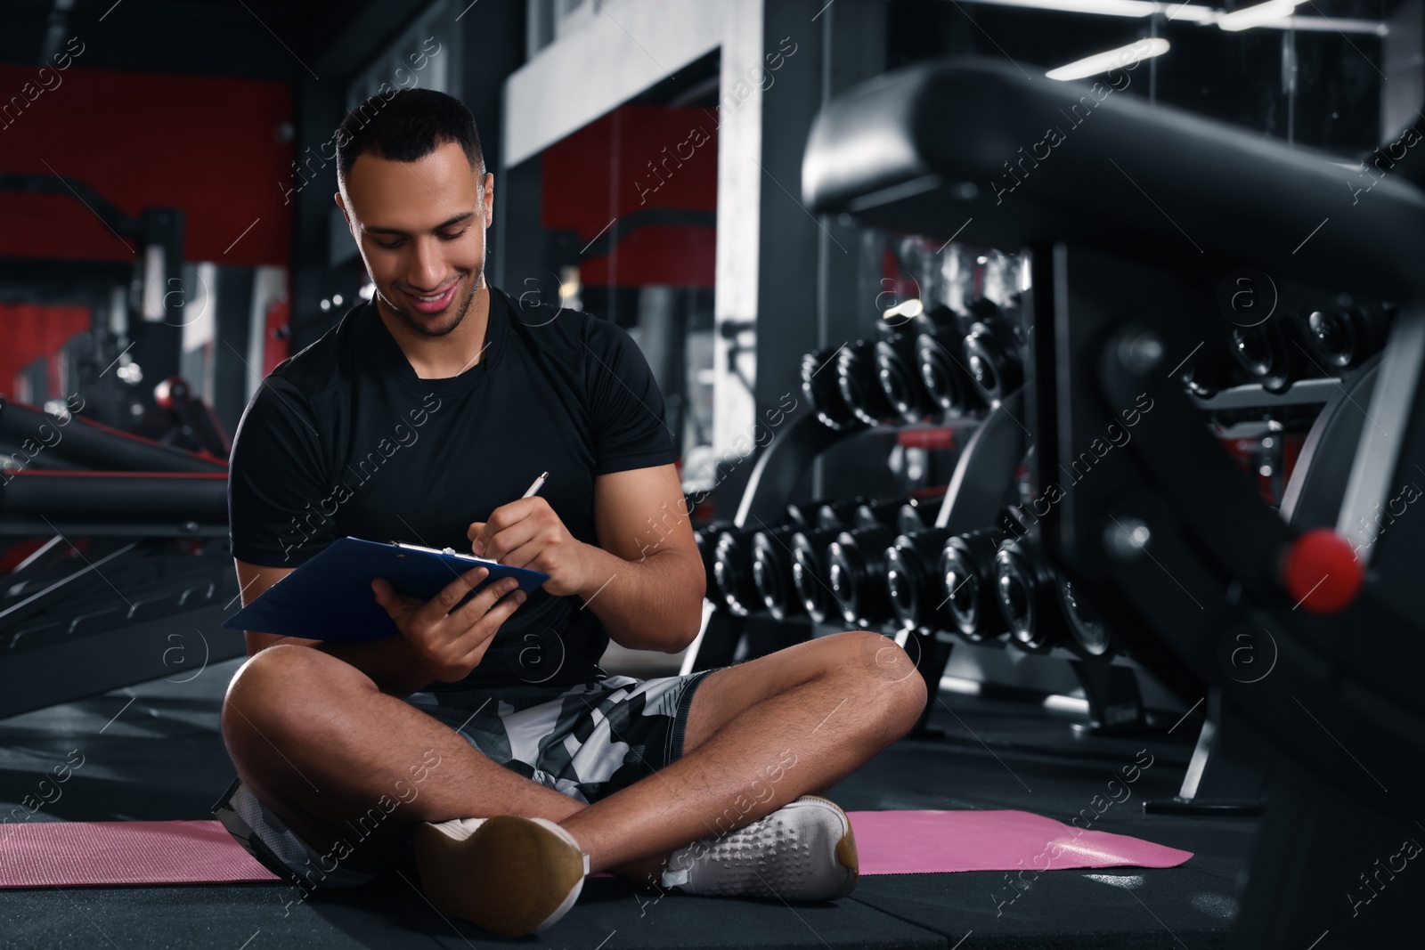
[[[430,600],[460,574],[482,564],[490,573],[456,607],[503,577],[519,580],[523,591],[533,591],[549,580],[549,574],[540,571],[456,554],[450,548],[437,551],[415,544],[343,537],[262,591],[222,625],[305,640],[395,637],[399,632],[396,621],[376,602],[372,578],[385,577],[399,593]]]

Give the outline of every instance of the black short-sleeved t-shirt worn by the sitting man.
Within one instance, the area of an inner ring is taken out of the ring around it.
[[[232,443],[232,555],[296,567],[348,534],[470,553],[469,524],[542,471],[539,494],[570,534],[597,544],[594,476],[677,459],[647,360],[608,320],[524,308],[497,288],[486,342],[459,376],[420,379],[362,303],[276,366]],[[581,604],[532,591],[459,685],[600,677],[608,637]]]

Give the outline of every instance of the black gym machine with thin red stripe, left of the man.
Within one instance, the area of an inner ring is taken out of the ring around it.
[[[205,632],[238,597],[227,434],[180,383],[160,404],[222,460],[0,400],[0,716],[245,652]]]

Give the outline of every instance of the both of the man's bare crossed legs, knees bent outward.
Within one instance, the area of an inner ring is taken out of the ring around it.
[[[244,785],[318,853],[351,842],[353,822],[383,802],[385,820],[349,856],[336,852],[348,872],[389,866],[420,822],[522,816],[556,823],[587,855],[589,873],[647,884],[691,842],[845,778],[905,735],[925,702],[913,662],[881,634],[798,644],[707,674],[687,708],[681,758],[590,805],[497,765],[355,667],[276,645],[234,677],[222,735]],[[409,799],[398,790],[416,779]]]

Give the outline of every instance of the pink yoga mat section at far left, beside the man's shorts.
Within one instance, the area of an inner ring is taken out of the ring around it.
[[[0,825],[0,887],[276,882],[218,822]]]

